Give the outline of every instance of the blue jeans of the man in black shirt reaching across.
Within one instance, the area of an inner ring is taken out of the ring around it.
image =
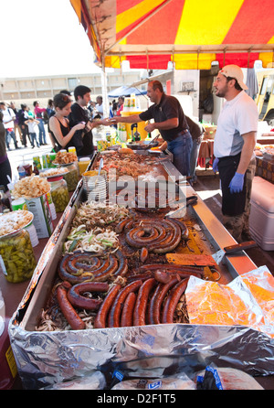
[[[174,155],[174,166],[182,176],[190,175],[190,153],[192,136],[189,132],[180,134],[172,142],[167,142],[168,150]]]

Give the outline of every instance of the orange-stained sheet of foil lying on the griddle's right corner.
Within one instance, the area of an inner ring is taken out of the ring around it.
[[[267,266],[228,285],[191,276],[185,299],[190,324],[243,325],[274,338],[274,277]]]

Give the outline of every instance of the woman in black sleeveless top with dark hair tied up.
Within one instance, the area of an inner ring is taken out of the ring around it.
[[[55,145],[54,148],[57,151],[68,150],[69,146],[74,146],[74,134],[85,127],[85,123],[78,123],[70,129],[68,114],[70,113],[71,102],[65,93],[58,93],[53,99],[56,113],[49,119],[48,130],[52,144]]]

